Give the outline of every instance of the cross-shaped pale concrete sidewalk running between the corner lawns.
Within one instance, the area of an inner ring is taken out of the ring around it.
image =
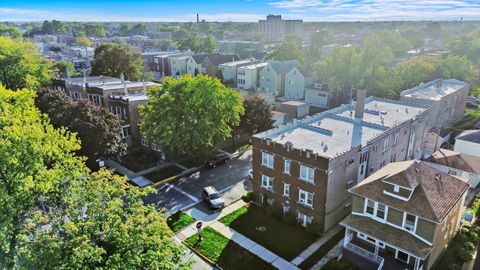
[[[203,222],[203,228],[210,226],[212,229],[218,231],[223,236],[227,237],[228,239],[232,240],[239,246],[243,247],[244,249],[250,251],[251,253],[257,255],[260,259],[266,261],[267,263],[271,264],[277,269],[282,270],[298,270],[299,268],[289,261],[283,259],[282,257],[276,255],[275,253],[271,252],[270,250],[266,249],[262,245],[257,244],[256,242],[252,241],[251,239],[245,237],[241,233],[235,231],[234,229],[223,225],[218,219],[230,214],[231,212],[237,210],[240,207],[245,206],[246,203],[242,200],[239,200],[224,209],[221,212],[215,213],[212,215],[207,215],[206,213],[192,208],[186,211],[187,214],[194,217],[196,220]],[[177,233],[177,237],[183,241],[188,237],[197,233],[197,229],[195,228],[195,224],[188,226],[187,228],[183,229],[182,231]]]

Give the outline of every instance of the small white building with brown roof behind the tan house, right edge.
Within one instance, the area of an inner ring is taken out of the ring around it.
[[[480,183],[480,157],[440,149],[426,161],[433,167],[469,183],[470,188],[476,188]]]

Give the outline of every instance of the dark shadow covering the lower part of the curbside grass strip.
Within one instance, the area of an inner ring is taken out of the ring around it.
[[[218,257],[217,265],[224,270],[270,270],[275,269],[269,263],[263,261],[250,251],[242,248],[232,240],[228,241],[228,244]]]

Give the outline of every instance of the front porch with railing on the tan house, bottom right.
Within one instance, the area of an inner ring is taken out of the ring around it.
[[[360,235],[347,228],[343,242],[343,258],[363,270],[422,270],[424,261],[399,251],[388,243],[370,236]],[[403,257],[403,255],[407,255]],[[402,260],[403,259],[403,260]]]

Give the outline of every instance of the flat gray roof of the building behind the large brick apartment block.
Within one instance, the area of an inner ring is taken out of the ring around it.
[[[429,100],[440,100],[442,97],[450,95],[467,85],[466,82],[456,79],[433,80],[422,83],[413,88],[404,90],[400,93],[402,97],[421,98]]]

